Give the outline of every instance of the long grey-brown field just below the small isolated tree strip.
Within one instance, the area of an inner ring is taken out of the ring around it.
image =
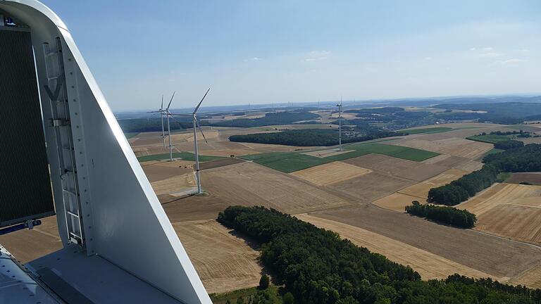
[[[535,246],[436,224],[371,204],[349,205],[309,215],[387,236],[503,281],[541,263],[541,249]]]

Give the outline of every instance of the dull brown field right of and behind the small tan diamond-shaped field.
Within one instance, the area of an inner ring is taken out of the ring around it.
[[[359,167],[364,167],[380,172],[385,175],[395,176],[402,179],[411,179],[416,182],[428,179],[447,170],[447,167],[432,165],[426,163],[414,162],[411,160],[402,160],[391,156],[381,154],[368,154],[344,160]]]

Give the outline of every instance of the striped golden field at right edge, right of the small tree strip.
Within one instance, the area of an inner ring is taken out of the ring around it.
[[[541,186],[494,184],[458,208],[475,213],[475,229],[541,245]]]

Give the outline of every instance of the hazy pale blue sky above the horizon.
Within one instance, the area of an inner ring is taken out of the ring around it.
[[[43,0],[113,110],[541,91],[541,1]]]

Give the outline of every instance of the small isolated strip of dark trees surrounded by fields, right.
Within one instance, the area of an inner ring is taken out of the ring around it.
[[[406,213],[425,217],[428,220],[442,222],[457,228],[473,228],[477,217],[468,210],[460,210],[453,207],[442,207],[437,205],[421,205],[418,201],[411,202],[406,206]]]

